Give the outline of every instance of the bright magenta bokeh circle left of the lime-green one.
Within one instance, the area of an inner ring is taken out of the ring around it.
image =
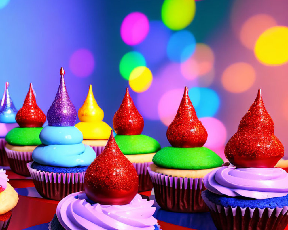
[[[141,43],[148,32],[148,18],[140,12],[128,14],[124,18],[120,28],[121,38],[127,45],[137,45]]]

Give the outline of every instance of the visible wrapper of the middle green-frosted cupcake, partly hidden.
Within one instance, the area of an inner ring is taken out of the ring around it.
[[[139,176],[138,192],[152,190],[153,184],[147,168],[150,164],[153,164],[153,162],[132,163],[132,164],[134,165],[136,172]]]

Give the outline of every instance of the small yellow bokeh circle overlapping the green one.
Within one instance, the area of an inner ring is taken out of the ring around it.
[[[129,85],[137,93],[146,91],[152,84],[152,73],[146,66],[138,66],[132,70]]]

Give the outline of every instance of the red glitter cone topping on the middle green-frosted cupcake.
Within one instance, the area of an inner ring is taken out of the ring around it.
[[[139,135],[143,131],[143,117],[135,107],[128,88],[120,108],[113,117],[113,128],[118,135]]]

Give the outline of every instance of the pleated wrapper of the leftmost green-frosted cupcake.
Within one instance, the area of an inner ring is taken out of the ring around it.
[[[32,161],[32,152],[18,152],[7,149],[6,147],[5,151],[11,170],[22,176],[30,176],[27,163]]]

